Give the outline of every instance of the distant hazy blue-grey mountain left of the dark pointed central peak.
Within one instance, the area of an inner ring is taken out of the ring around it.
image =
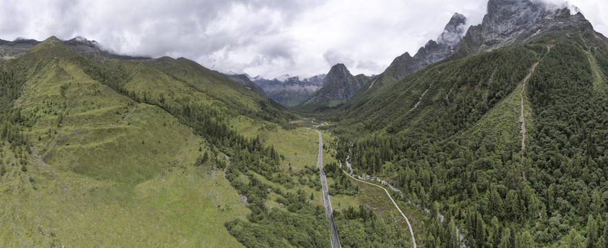
[[[269,99],[287,107],[294,107],[306,101],[310,94],[318,90],[324,78],[325,74],[302,80],[298,76],[289,75],[272,80],[256,76],[253,81],[264,90]]]

